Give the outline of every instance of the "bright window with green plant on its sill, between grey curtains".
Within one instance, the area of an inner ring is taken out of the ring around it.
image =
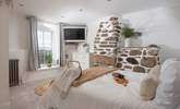
[[[59,66],[60,46],[59,26],[49,23],[38,23],[38,49],[40,69]]]

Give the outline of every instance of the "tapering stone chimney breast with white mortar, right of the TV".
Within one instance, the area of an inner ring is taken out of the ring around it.
[[[121,33],[121,24],[118,17],[110,17],[107,22],[100,22],[94,41],[94,53],[101,56],[117,55],[118,41]]]

